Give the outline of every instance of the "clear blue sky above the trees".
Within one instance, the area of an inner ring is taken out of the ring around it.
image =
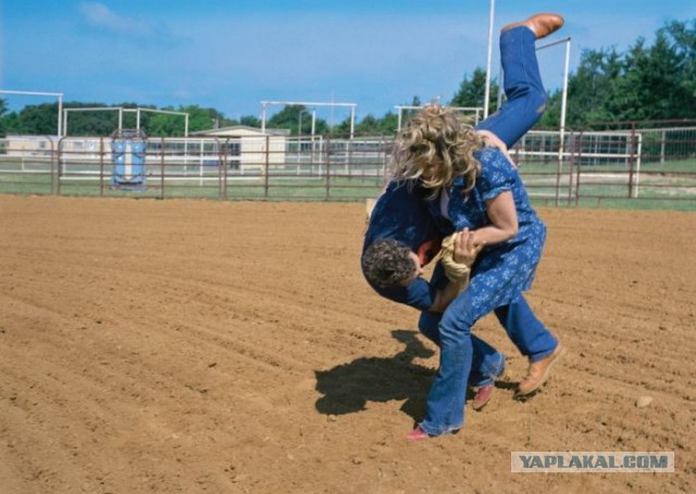
[[[448,101],[465,74],[486,66],[489,4],[0,0],[0,89],[199,104],[233,118],[260,115],[264,100],[355,103],[359,119],[382,116],[414,96]],[[651,42],[668,21],[696,18],[693,0],[496,0],[495,10],[496,33],[535,12],[563,14],[548,40],[572,38],[571,72],[584,49],[623,51],[641,36]],[[549,89],[562,84],[562,47],[539,52]],[[493,56],[497,75],[497,49]],[[0,97],[12,110],[54,101]]]

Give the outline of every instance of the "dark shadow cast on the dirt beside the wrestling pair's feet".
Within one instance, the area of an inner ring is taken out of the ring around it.
[[[395,329],[391,335],[405,349],[390,357],[360,357],[328,370],[316,370],[315,389],[323,394],[316,409],[326,415],[346,415],[365,409],[368,402],[406,400],[401,410],[414,420],[422,417],[425,396],[435,371],[413,364],[434,352],[417,338],[417,331]]]

